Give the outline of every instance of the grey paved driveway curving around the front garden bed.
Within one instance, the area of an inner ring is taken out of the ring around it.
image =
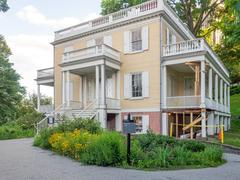
[[[239,180],[240,156],[218,168],[145,172],[84,166],[32,146],[32,139],[0,141],[0,180]]]

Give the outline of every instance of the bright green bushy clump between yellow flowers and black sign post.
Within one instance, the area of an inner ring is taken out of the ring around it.
[[[124,137],[117,132],[104,132],[82,154],[82,161],[99,166],[116,166],[126,155]]]

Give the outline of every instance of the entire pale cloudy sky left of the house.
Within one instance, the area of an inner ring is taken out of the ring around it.
[[[21,75],[28,93],[37,92],[37,70],[53,66],[54,31],[100,14],[100,0],[8,0],[10,9],[0,13],[0,34],[12,51],[10,61]],[[41,86],[53,96],[53,88]]]

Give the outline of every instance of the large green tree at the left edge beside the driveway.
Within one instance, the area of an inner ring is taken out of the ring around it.
[[[20,75],[9,62],[10,55],[11,51],[0,35],[0,124],[14,119],[25,92],[19,83]]]

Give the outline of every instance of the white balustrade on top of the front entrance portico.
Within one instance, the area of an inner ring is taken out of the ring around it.
[[[120,61],[120,53],[110,46],[103,44],[64,53],[62,63],[95,58],[98,56],[107,56]]]

